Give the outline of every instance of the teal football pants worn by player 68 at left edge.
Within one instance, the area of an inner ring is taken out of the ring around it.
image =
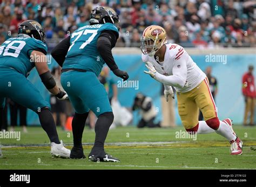
[[[40,112],[43,107],[51,108],[35,85],[10,68],[0,68],[0,107],[4,107],[5,97],[35,112]]]

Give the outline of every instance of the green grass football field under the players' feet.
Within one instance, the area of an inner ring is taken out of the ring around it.
[[[107,153],[119,163],[52,158],[49,139],[41,127],[29,127],[21,140],[0,139],[3,156],[0,169],[256,169],[256,127],[233,126],[244,142],[242,155],[230,155],[230,144],[220,135],[199,134],[197,140],[178,139],[184,128],[119,127],[110,130]],[[17,128],[16,131],[20,131]],[[72,133],[58,128],[59,138],[72,147]],[[84,152],[87,157],[95,132],[85,128]]]

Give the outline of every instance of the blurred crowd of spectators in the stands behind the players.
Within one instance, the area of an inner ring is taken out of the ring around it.
[[[78,27],[88,25],[97,5],[120,18],[117,46],[138,47],[144,28],[160,25],[169,42],[184,47],[253,47],[256,1],[235,0],[0,0],[0,44],[14,37],[26,19],[42,24],[49,49]]]

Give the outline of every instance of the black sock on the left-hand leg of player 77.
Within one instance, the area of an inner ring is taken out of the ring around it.
[[[72,132],[74,147],[82,147],[82,137],[84,132],[85,121],[88,117],[88,114],[89,112],[83,114],[75,113],[75,116],[73,117]]]

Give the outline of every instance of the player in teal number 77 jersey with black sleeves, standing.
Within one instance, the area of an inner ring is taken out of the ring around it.
[[[95,125],[95,144],[89,160],[119,162],[119,159],[104,150],[104,142],[114,116],[106,90],[97,78],[104,63],[124,81],[129,78],[125,71],[118,69],[111,52],[119,36],[118,23],[118,15],[113,9],[97,6],[92,10],[90,25],[78,28],[51,53],[62,66],[61,83],[75,108],[71,159],[85,158],[82,134],[89,110],[92,110],[98,120]]]

